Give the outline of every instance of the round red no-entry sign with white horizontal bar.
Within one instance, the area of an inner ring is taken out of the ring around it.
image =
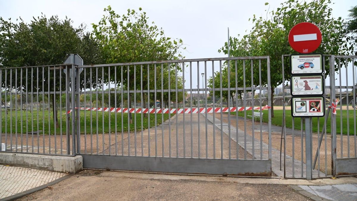
[[[290,30],[288,40],[290,46],[296,52],[311,53],[320,46],[322,35],[315,24],[302,22]]]

